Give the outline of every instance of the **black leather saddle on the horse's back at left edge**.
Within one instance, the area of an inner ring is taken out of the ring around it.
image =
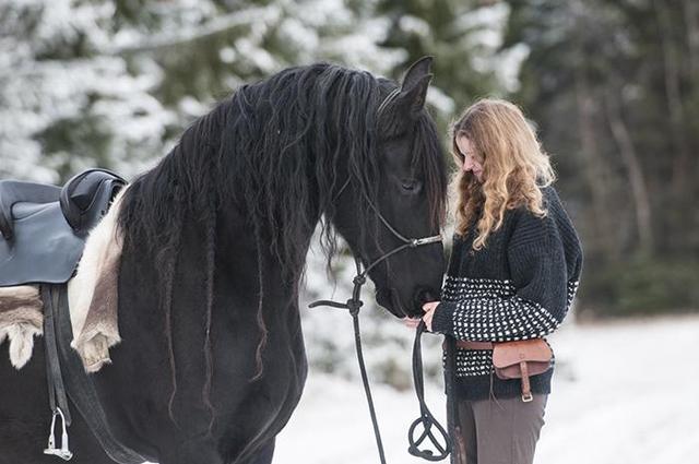
[[[68,282],[87,234],[126,183],[106,169],[88,169],[62,188],[0,180],[0,287]]]

